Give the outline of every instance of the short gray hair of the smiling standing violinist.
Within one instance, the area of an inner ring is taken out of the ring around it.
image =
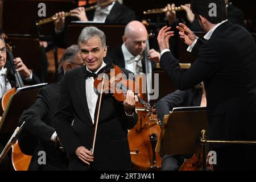
[[[104,32],[96,27],[85,27],[84,29],[82,29],[81,34],[79,36],[78,44],[86,43],[88,39],[90,39],[93,36],[100,37],[102,47],[104,48],[106,46],[106,36]]]

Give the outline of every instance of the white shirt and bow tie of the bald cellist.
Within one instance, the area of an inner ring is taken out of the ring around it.
[[[133,56],[128,49],[125,47],[125,43],[122,44],[122,52],[123,57],[125,59],[125,69],[129,70],[130,72],[136,73],[143,73],[142,69],[142,55]]]

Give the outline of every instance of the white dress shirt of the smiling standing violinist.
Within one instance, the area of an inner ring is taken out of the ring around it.
[[[101,68],[105,67],[106,63],[104,63],[104,61],[102,60],[102,65],[101,67],[94,73],[98,73],[98,71],[100,71]],[[87,67],[86,70],[89,72],[90,71]],[[92,118],[92,122],[94,123],[94,113],[95,113],[95,109],[96,109],[96,104],[97,104],[97,100],[98,100],[98,94],[97,94],[97,90],[94,89],[94,78],[93,77],[88,77],[85,80],[85,90],[86,90],[86,100],[87,100],[87,104],[88,104],[88,109],[90,112],[90,117]]]

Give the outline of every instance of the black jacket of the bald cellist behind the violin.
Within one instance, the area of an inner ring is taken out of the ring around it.
[[[119,47],[113,48],[113,49],[109,49],[106,59],[110,59],[111,63],[118,65],[118,67],[120,67],[120,68],[125,68],[125,57],[123,56],[122,46],[119,46]],[[146,73],[144,55],[143,55],[143,59],[141,61],[142,61],[143,72]],[[154,61],[151,61],[151,64],[152,64],[152,69],[155,69],[156,63]]]

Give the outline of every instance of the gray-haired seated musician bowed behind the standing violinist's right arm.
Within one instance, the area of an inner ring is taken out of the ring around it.
[[[68,47],[63,55],[64,72],[82,65],[84,65],[84,62],[81,59],[79,47],[76,45]],[[60,82],[57,82],[40,89],[35,104],[20,116],[19,123],[22,124],[23,121],[26,121],[26,125],[24,125],[20,133],[19,145],[31,145],[29,140],[26,140],[27,137],[23,137],[27,133],[39,139],[28,170],[52,171],[68,169],[67,156],[60,150],[59,138],[53,127],[53,115],[55,114],[60,91],[59,85]],[[39,151],[46,152],[46,164],[38,163],[40,158]]]

